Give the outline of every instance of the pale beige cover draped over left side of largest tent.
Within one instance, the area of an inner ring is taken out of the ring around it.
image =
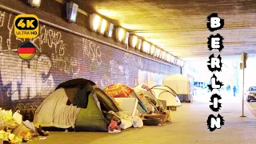
[[[68,97],[64,89],[55,90],[38,106],[34,115],[34,125],[63,129],[74,127],[81,109],[72,104],[66,105],[67,101]]]

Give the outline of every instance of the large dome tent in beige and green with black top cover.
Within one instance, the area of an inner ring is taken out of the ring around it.
[[[110,110],[118,106],[102,90],[86,79],[60,84],[36,110],[35,126],[70,128],[76,131],[108,131]]]

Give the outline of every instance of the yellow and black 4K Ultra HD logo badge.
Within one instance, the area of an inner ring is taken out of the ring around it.
[[[14,34],[18,38],[36,38],[39,20],[34,14],[19,14],[14,19]]]

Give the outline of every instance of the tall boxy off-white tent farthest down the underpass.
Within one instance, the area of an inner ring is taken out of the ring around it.
[[[190,80],[182,74],[170,74],[163,79],[162,84],[172,88],[181,102],[191,102],[190,98]]]

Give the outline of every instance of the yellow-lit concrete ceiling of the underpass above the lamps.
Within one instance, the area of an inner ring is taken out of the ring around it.
[[[224,37],[222,55],[256,53],[256,0],[73,0],[89,13],[102,14],[179,58],[208,57],[207,37]],[[222,30],[206,27],[211,13],[225,19]],[[216,53],[218,54],[218,53]]]

